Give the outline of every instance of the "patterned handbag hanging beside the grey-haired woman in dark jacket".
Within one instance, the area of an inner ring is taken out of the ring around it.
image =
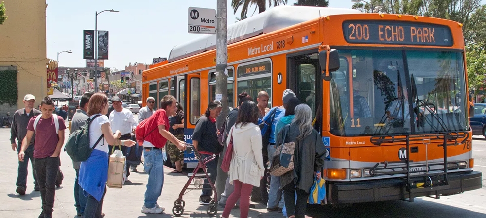
[[[287,132],[283,136],[285,140]],[[294,169],[294,151],[295,142],[287,142],[278,146],[274,153],[270,174],[272,176],[281,176]]]

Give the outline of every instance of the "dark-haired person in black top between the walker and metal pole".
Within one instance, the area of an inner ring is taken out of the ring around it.
[[[206,164],[208,173],[211,174],[210,179],[214,183],[216,181],[216,175],[218,173],[218,156],[223,151],[223,146],[218,142],[216,117],[221,113],[221,103],[219,101],[209,102],[208,109],[196,122],[196,128],[192,134],[192,144],[201,153],[201,158],[207,158],[212,155],[216,155],[216,159]],[[213,194],[211,186],[208,184],[207,179],[204,180],[203,191],[199,197],[199,202],[204,205],[209,205]]]

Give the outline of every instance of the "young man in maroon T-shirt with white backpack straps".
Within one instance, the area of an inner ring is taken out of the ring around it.
[[[37,183],[40,187],[42,212],[39,218],[52,218],[55,182],[59,171],[59,153],[64,143],[64,119],[58,115],[52,116],[54,102],[45,97],[40,104],[42,115],[32,117],[27,125],[27,134],[22,141],[18,160],[24,161],[25,150],[35,134],[34,165],[37,172]],[[41,117],[39,117],[41,116]]]

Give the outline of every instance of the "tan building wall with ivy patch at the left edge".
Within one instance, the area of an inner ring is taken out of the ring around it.
[[[23,108],[23,97],[34,94],[37,102],[47,95],[45,0],[2,0],[7,20],[0,25],[0,78],[17,72],[17,104],[0,105],[0,115]],[[3,90],[1,90],[3,89]],[[12,93],[0,86],[0,93]],[[3,95],[3,94],[2,94]],[[5,98],[5,96],[0,96]]]

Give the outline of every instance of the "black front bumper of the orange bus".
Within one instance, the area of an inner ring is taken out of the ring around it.
[[[478,171],[448,173],[449,188],[438,190],[437,194],[451,195],[480,189],[482,173]],[[328,182],[328,203],[363,203],[409,198],[406,179],[392,178],[358,182]],[[435,191],[413,193],[412,196],[435,196]]]

